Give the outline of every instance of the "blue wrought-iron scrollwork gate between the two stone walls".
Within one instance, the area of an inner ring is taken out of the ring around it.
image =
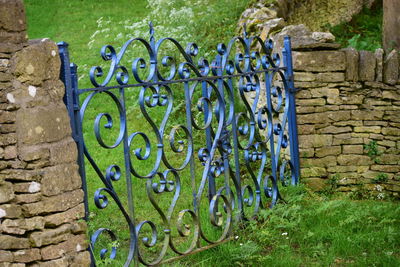
[[[134,45],[146,59],[130,58]],[[88,89],[78,89],[68,44],[59,50],[86,219],[98,227],[93,265],[157,265],[215,246],[298,183],[289,37],[282,60],[271,40],[245,32],[196,61],[196,44],[156,41],[150,24],[149,41],[101,49],[109,67],[92,67]]]

